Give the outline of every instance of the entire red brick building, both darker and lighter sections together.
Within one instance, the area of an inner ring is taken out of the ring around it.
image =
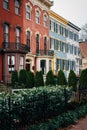
[[[50,0],[0,0],[0,80],[9,82],[14,70],[42,70],[45,74],[51,68],[52,5]]]

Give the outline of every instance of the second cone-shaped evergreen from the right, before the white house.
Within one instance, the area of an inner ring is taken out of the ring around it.
[[[70,70],[70,73],[68,76],[68,85],[69,87],[73,87],[73,90],[76,90],[77,78],[73,70]]]

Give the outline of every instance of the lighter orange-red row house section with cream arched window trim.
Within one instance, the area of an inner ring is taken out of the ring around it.
[[[24,28],[29,52],[26,55],[26,70],[43,75],[52,69],[53,52],[49,51],[49,10],[53,2],[30,0],[26,3]],[[25,16],[26,15],[26,16]]]

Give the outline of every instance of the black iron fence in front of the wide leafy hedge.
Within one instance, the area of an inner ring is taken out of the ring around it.
[[[30,125],[64,112],[67,103],[65,89],[61,96],[54,92],[50,94],[43,92],[38,97],[18,97],[18,101],[11,96],[0,99],[0,130],[27,130]]]

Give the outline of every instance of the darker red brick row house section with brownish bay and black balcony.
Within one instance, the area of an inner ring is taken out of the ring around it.
[[[9,82],[12,72],[25,68],[28,52],[23,41],[23,4],[0,0],[0,80]]]

